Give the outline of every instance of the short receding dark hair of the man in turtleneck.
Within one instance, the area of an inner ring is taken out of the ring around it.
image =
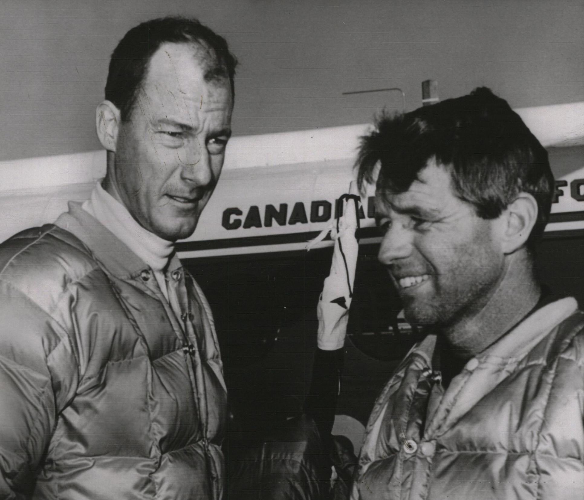
[[[164,43],[198,44],[208,51],[204,57],[206,81],[229,78],[235,96],[237,59],[227,41],[197,19],[168,17],[152,19],[128,31],[112,53],[106,82],[106,99],[120,110],[121,120],[130,116],[152,55]]]

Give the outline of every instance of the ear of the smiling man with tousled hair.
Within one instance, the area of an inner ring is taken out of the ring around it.
[[[512,254],[521,248],[537,221],[538,207],[536,199],[529,193],[520,193],[501,214],[502,249],[505,254]]]

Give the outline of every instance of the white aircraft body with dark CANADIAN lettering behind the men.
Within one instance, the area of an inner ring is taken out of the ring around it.
[[[550,151],[557,196],[547,231],[584,229],[584,102],[517,109]],[[234,137],[220,182],[179,255],[196,259],[304,249],[335,215],[354,178],[356,125]],[[53,222],[105,175],[105,151],[0,162],[0,241]],[[369,197],[373,189],[369,190]],[[361,243],[378,241],[363,199]],[[329,246],[330,240],[319,246]]]

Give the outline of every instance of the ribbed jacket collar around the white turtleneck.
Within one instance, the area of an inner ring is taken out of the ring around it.
[[[69,211],[62,213],[55,225],[81,239],[95,259],[114,276],[128,279],[149,269],[113,232],[82,209],[81,203],[69,202]],[[180,266],[178,257],[173,254],[168,266],[169,272]]]

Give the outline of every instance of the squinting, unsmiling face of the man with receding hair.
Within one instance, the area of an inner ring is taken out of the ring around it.
[[[203,52],[167,43],[152,55],[134,108],[117,125],[104,183],[142,227],[168,241],[194,231],[231,135],[230,84],[205,81]]]

